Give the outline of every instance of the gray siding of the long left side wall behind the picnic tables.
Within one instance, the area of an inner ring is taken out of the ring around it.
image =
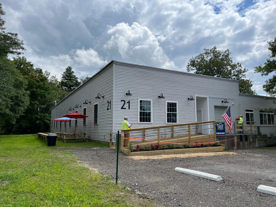
[[[97,94],[104,95],[104,99],[95,99]],[[85,99],[91,101],[91,104],[83,104]],[[107,110],[108,103],[111,101],[111,109]],[[113,65],[109,64],[99,73],[80,86],[62,101],[57,104],[57,117],[65,116],[66,114],[78,111],[83,114],[83,109],[87,107],[86,125],[83,125],[83,119],[78,119],[76,132],[87,132],[89,139],[100,141],[104,140],[104,133],[109,133],[113,128]],[[99,103],[98,124],[94,125],[94,104]],[[81,108],[75,108],[76,104],[81,105]],[[67,111],[70,107],[75,108],[74,111]],[[51,119],[55,118],[55,107],[51,109]],[[74,132],[75,121],[72,120],[72,125],[69,127],[67,122],[66,131]],[[55,128],[51,127],[51,131]],[[58,123],[57,131],[60,131]],[[62,122],[61,131],[65,131],[64,122]]]

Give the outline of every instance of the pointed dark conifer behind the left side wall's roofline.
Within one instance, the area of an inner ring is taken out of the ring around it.
[[[81,85],[78,81],[78,77],[74,75],[74,71],[71,66],[68,66],[62,73],[60,84],[64,91],[74,91]]]

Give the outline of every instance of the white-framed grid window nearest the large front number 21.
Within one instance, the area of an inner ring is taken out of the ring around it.
[[[139,123],[152,123],[152,100],[139,99]]]

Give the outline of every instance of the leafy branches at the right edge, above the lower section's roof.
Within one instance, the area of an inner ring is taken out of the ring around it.
[[[262,65],[255,67],[255,72],[261,73],[262,76],[268,76],[271,73],[276,72],[276,37],[274,40],[271,40],[268,42],[268,49],[271,51],[271,55],[269,55],[269,58],[264,63],[264,66]],[[274,74],[271,78],[265,81],[265,84],[262,86],[265,92],[267,92],[269,95],[275,97],[276,96],[276,75]]]

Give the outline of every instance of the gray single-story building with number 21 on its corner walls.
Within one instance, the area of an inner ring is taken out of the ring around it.
[[[78,112],[76,131],[89,139],[108,141],[104,134],[121,129],[124,116],[132,128],[220,120],[230,106],[232,121],[242,115],[262,133],[276,134],[274,100],[239,93],[235,80],[141,66],[112,60],[83,85],[51,108],[51,120]],[[74,131],[75,121],[51,122],[51,131]],[[208,134],[212,129],[203,129]],[[228,133],[228,130],[226,130]],[[231,132],[233,133],[233,132]]]

